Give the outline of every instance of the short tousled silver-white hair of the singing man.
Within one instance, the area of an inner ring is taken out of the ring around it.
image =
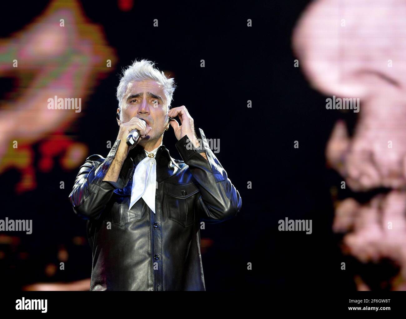
[[[131,81],[144,81],[149,79],[157,81],[163,86],[167,107],[170,107],[173,92],[176,88],[175,79],[166,77],[164,72],[154,68],[154,65],[155,62],[149,60],[134,60],[132,65],[127,66],[127,68],[123,70],[123,75],[120,77],[120,83],[119,86],[117,86],[116,93],[120,109],[125,92],[127,91],[128,83]]]

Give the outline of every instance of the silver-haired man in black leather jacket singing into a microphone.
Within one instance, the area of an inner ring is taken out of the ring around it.
[[[106,158],[92,155],[79,169],[69,199],[88,220],[90,290],[205,290],[201,222],[241,210],[203,131],[196,135],[184,105],[170,109],[174,91],[153,62],[127,67],[117,87],[117,139]],[[183,161],[162,145],[169,126]],[[134,129],[140,137],[129,147]]]

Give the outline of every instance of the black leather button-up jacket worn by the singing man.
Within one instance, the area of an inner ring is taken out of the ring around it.
[[[120,140],[107,158],[92,155],[80,167],[69,199],[75,214],[88,220],[90,290],[205,290],[201,222],[235,216],[242,200],[199,133],[208,162],[187,135],[175,144],[183,161],[158,148],[155,214],[142,198],[128,209],[134,169],[146,157],[141,146],[130,150],[117,182],[103,179]]]

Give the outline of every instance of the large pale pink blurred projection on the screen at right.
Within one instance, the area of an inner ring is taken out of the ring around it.
[[[404,39],[406,1],[390,0],[315,1],[292,39],[313,88],[330,97],[360,98],[354,135],[349,137],[344,122],[337,122],[327,161],[353,191],[391,191],[366,205],[353,198],[337,203],[333,229],[346,232],[344,250],[360,261],[388,258],[400,267],[387,283],[391,290],[406,290]],[[358,290],[370,289],[358,277],[356,283]]]

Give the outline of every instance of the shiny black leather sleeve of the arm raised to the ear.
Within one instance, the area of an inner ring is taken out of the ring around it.
[[[227,177],[227,172],[210,150],[201,128],[199,133],[200,144],[203,144],[201,147],[206,153],[208,162],[199,154],[187,135],[179,139],[175,145],[197,181],[196,186],[201,194],[199,198],[201,220],[218,223],[237,215],[241,210],[242,199]]]

